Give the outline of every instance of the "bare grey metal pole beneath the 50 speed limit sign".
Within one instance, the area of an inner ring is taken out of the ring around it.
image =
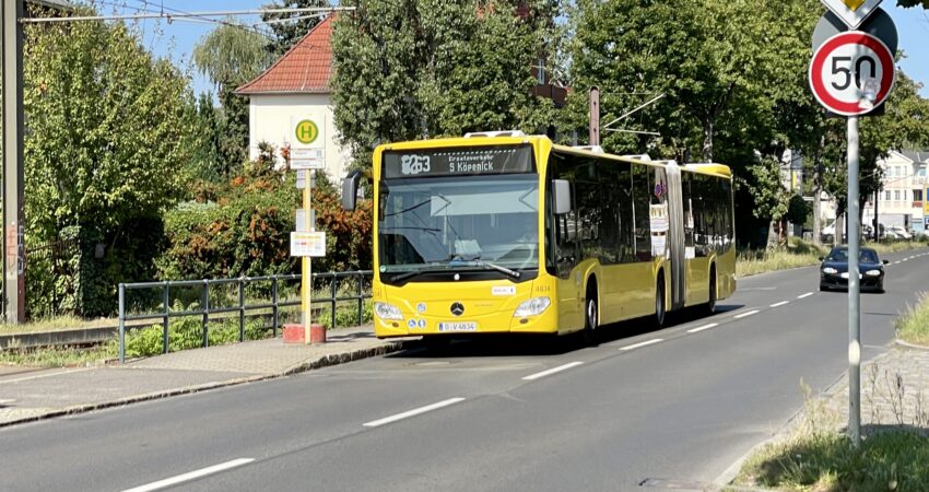
[[[848,117],[848,433],[854,447],[861,441],[861,318],[858,204],[858,116]]]

